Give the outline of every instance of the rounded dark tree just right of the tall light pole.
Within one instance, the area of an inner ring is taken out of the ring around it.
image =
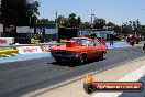
[[[96,29],[103,29],[103,26],[105,25],[105,20],[102,18],[97,18],[93,22]]]

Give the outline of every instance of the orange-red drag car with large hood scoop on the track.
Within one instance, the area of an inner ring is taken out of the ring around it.
[[[103,58],[104,53],[108,52],[104,41],[99,41],[97,37],[74,37],[67,41],[65,45],[54,45],[49,50],[51,55],[57,63],[63,60],[71,60],[78,62],[78,64],[83,64],[90,58]]]

